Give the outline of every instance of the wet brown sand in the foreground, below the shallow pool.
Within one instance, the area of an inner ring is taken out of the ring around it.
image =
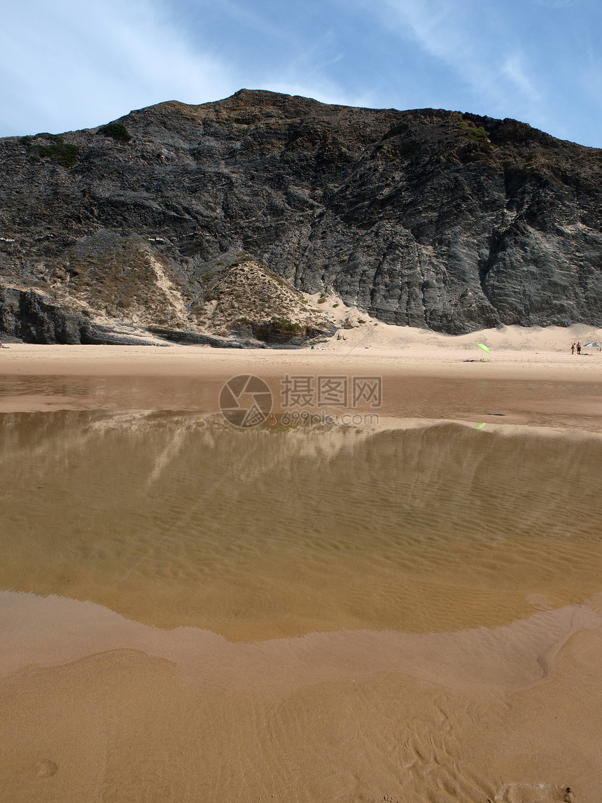
[[[33,663],[0,687],[12,800],[597,800],[590,605],[482,633],[246,644],[21,597]]]

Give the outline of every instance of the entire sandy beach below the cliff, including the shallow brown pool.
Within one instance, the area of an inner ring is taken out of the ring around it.
[[[597,803],[602,331],[339,334],[0,351],[0,797]],[[382,377],[378,426],[239,468],[249,373]]]

